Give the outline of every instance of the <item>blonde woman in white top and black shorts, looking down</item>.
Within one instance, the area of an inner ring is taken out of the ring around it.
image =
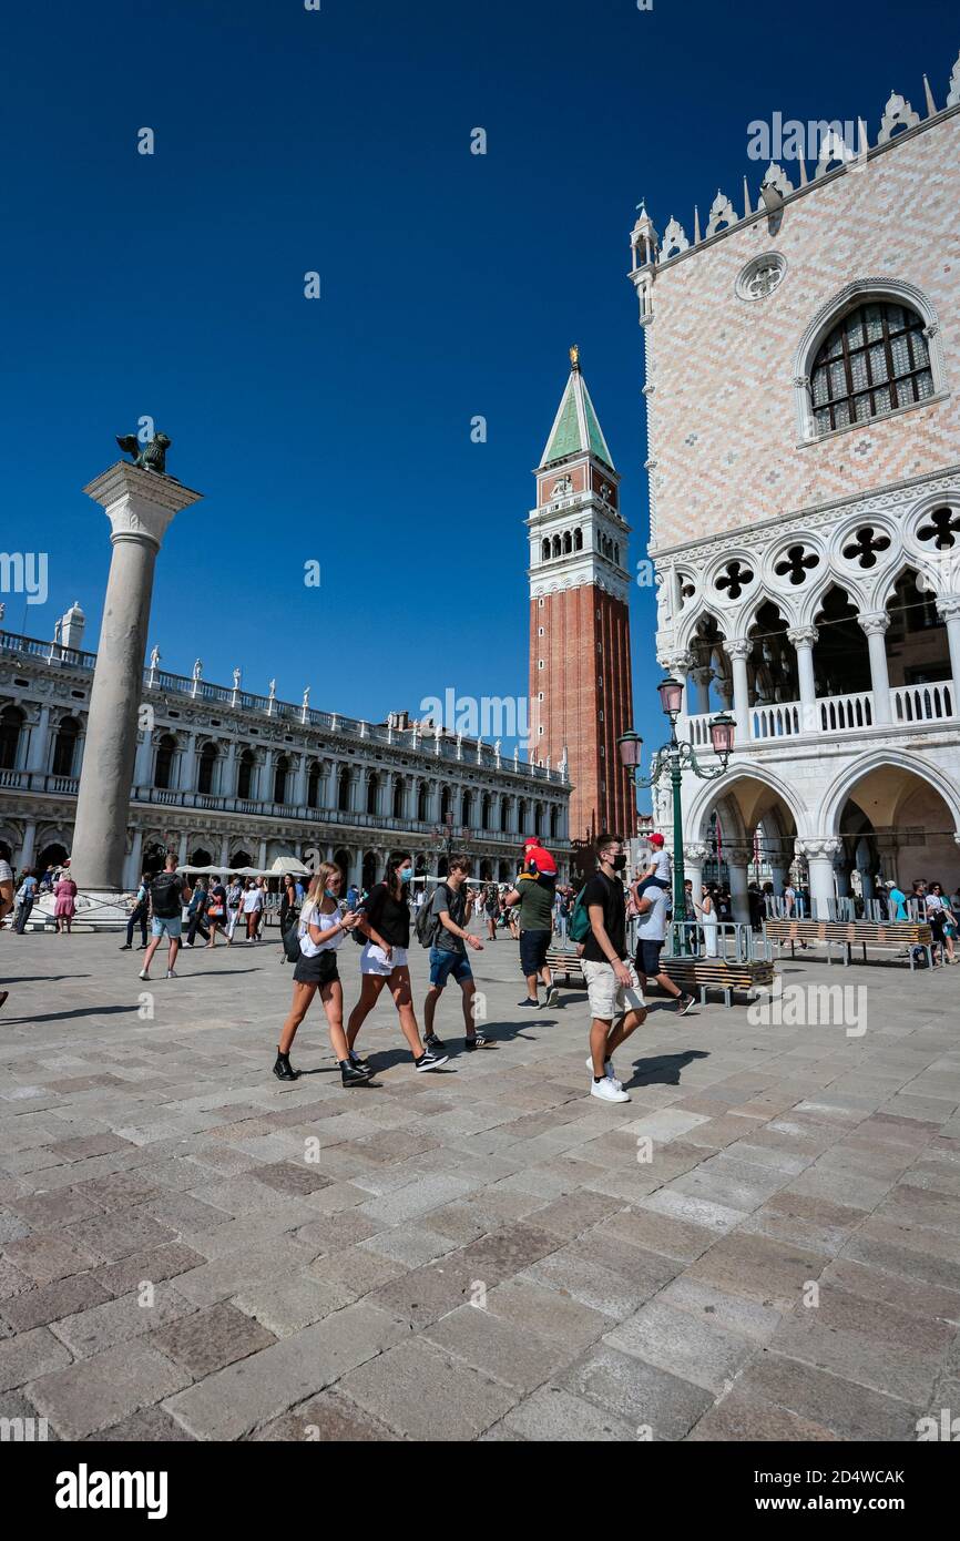
[[[299,1071],[291,1069],[290,1049],[317,989],[327,1012],[330,1042],[341,1066],[344,1086],[365,1086],[373,1076],[370,1065],[351,1054],[344,1032],[344,986],[336,966],[336,954],[347,932],[356,926],[357,917],[353,911],[341,915],[342,885],[344,874],[339,866],[324,861],[307,889],[297,923],[300,957],[293,971],[293,1005],[280,1032],[277,1059],[273,1066],[277,1080],[296,1080],[299,1076]]]

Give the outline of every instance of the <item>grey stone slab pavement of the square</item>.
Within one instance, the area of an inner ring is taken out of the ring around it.
[[[307,1074],[270,1074],[273,940],[151,986],[137,962],[0,937],[0,1416],[60,1439],[911,1441],[960,1413],[952,971],[786,960],[790,985],[866,986],[852,1034],[655,1003],[607,1106],[584,995],[518,1011],[509,940],[473,957],[495,1049],[459,1053],[450,986],[456,1057],[416,1076],[382,1003],[379,1086],[350,1093],[319,1005]],[[357,962],[348,942],[348,1005]]]

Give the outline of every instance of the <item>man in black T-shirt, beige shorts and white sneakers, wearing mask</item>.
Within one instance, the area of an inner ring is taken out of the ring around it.
[[[629,1102],[629,1094],[613,1073],[613,1051],[644,1022],[647,1009],[627,951],[627,901],[623,886],[627,858],[619,835],[599,835],[596,861],[598,869],[582,897],[590,917],[590,932],[582,951],[592,1017],[587,1059],[587,1068],[593,1073],[590,1096],[601,1102]],[[618,1017],[621,1020],[613,1026]]]

